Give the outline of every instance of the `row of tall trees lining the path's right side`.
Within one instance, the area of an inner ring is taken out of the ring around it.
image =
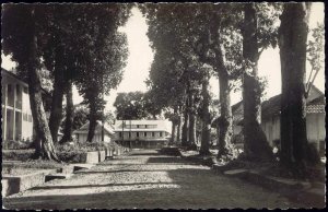
[[[173,138],[181,134],[177,137],[181,144],[195,149],[196,122],[200,120],[200,154],[209,154],[210,128],[214,125],[219,137],[218,158],[236,157],[232,145],[230,93],[242,82],[244,157],[271,161],[272,150],[260,128],[265,87],[258,76],[258,60],[265,49],[279,44],[281,163],[296,172],[304,170],[304,164],[317,162],[308,152],[305,122],[311,3],[174,3],[140,8],[147,17],[148,36],[155,52],[149,93],[155,96],[160,108],[173,111]],[[320,45],[309,43],[309,55],[317,55]],[[211,75],[216,75],[220,83],[220,115],[215,119],[209,109]]]

